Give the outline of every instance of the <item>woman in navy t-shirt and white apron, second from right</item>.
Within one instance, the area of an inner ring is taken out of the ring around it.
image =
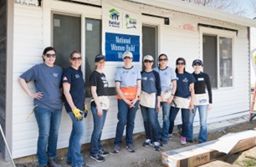
[[[172,134],[174,127],[174,120],[177,113],[182,109],[182,137],[181,144],[187,144],[189,113],[194,108],[194,82],[195,78],[191,73],[185,70],[186,61],[184,58],[177,58],[176,60],[176,74],[177,74],[177,90],[174,95],[175,103],[172,104],[170,114],[170,129],[169,134]]]

